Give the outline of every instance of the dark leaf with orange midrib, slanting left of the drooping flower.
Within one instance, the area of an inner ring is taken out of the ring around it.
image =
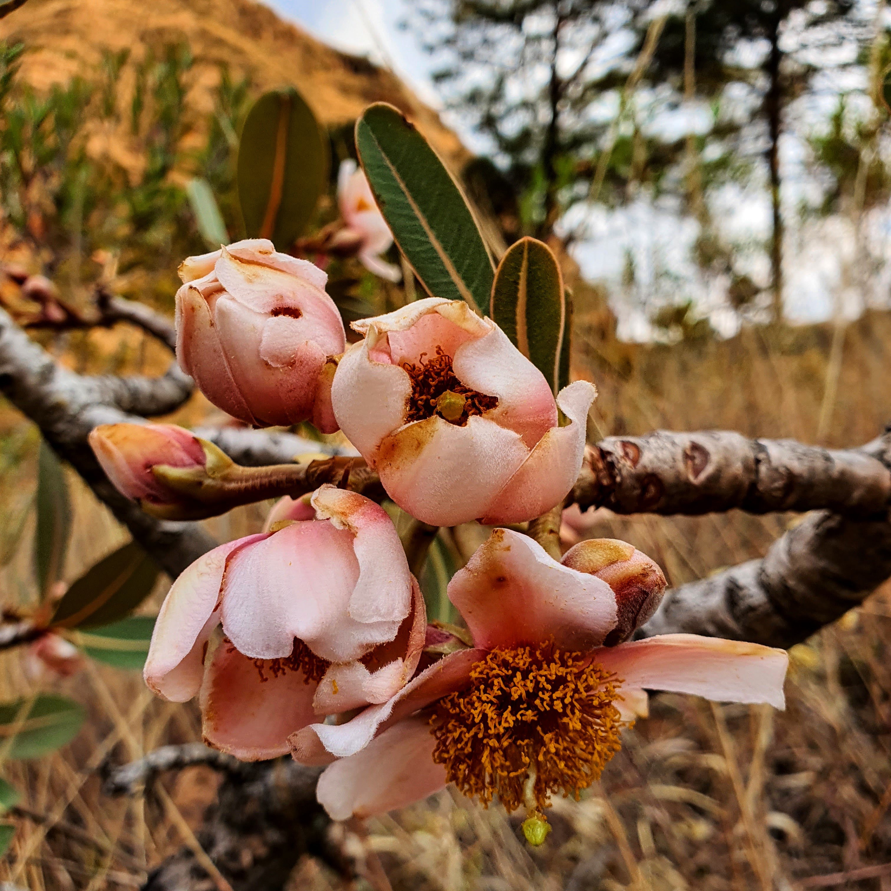
[[[50,625],[86,628],[117,622],[149,596],[158,573],[158,564],[138,544],[125,544],[71,585]]]

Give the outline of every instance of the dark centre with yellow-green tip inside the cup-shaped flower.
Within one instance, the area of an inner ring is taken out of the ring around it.
[[[412,395],[408,397],[405,423],[424,421],[439,415],[463,427],[471,414],[482,414],[498,405],[497,396],[486,396],[478,390],[465,387],[452,370],[452,356],[437,347],[437,355],[424,361],[427,353],[421,353],[418,364],[402,363],[403,370],[412,379]],[[462,402],[463,400],[463,402]]]

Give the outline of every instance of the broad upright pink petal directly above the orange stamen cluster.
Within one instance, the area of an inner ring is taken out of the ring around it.
[[[549,638],[563,650],[589,650],[616,625],[609,584],[561,566],[511,529],[495,529],[454,574],[448,596],[486,650]]]

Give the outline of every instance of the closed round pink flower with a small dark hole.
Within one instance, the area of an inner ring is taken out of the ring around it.
[[[201,392],[248,424],[312,420],[333,433],[329,360],[346,337],[322,270],[248,239],[189,257],[179,274],[176,356]]]

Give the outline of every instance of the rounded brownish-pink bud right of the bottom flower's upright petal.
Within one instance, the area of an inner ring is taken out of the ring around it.
[[[658,564],[617,538],[589,538],[563,555],[563,566],[597,576],[616,594],[617,625],[604,644],[627,641],[656,612],[666,589]]]

